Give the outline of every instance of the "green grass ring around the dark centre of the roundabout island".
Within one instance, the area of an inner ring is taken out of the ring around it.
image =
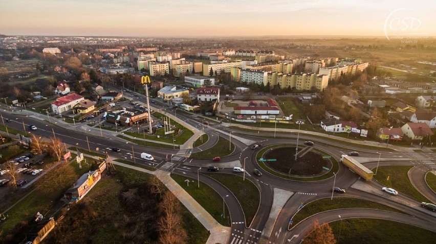
[[[273,148],[277,148],[277,147],[283,147],[286,144],[276,144],[276,145],[269,145],[268,147],[265,147],[263,149],[261,149],[257,155],[256,155],[256,160],[257,160],[257,164],[263,168],[266,172],[281,177],[283,179],[287,179],[287,180],[294,180],[294,181],[319,181],[319,180],[325,180],[328,179],[330,177],[333,176],[333,173],[338,172],[339,170],[339,163],[338,161],[336,161],[336,159],[334,158],[330,158],[329,160],[332,162],[332,168],[330,169],[330,171],[324,175],[321,176],[316,176],[316,177],[295,177],[295,176],[289,176],[280,172],[277,172],[276,170],[268,167],[264,162],[260,162],[259,159],[263,157],[264,153],[270,149]],[[289,144],[289,146],[293,147],[294,144]],[[327,153],[324,153],[320,150],[315,150],[318,151],[319,153],[321,153],[322,155],[328,155]]]

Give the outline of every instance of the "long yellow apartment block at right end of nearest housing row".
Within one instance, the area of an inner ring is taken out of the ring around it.
[[[272,72],[267,75],[266,84],[268,82],[270,86],[279,85],[282,89],[291,87],[297,90],[316,89],[322,91],[329,85],[329,77],[315,73],[281,74]]]

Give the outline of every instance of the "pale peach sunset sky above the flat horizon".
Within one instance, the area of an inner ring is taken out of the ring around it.
[[[226,37],[436,33],[433,0],[0,0],[0,34]]]

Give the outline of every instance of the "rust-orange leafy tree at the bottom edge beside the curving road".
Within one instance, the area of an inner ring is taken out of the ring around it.
[[[318,219],[313,222],[312,230],[304,237],[303,244],[335,244],[336,239],[329,224],[319,224]]]

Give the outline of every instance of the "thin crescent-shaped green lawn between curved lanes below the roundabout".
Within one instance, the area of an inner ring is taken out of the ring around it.
[[[398,209],[377,202],[372,202],[365,199],[337,197],[337,196],[338,195],[335,194],[333,200],[330,200],[330,198],[323,198],[308,203],[307,205],[304,205],[304,207],[301,208],[300,211],[298,211],[295,214],[295,216],[292,217],[292,220],[294,221],[293,225],[295,226],[304,218],[307,218],[314,214],[328,211],[328,210],[333,210],[333,209],[340,209],[340,208],[372,208],[372,209],[380,209],[380,210],[386,210],[386,211],[397,212],[397,213],[404,213]]]

